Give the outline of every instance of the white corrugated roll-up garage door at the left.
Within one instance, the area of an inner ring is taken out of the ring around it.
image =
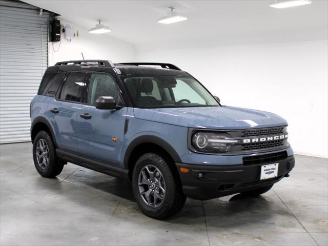
[[[29,107],[48,66],[49,12],[0,0],[0,143],[30,141]]]

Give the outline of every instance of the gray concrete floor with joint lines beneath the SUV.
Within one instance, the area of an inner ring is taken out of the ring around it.
[[[296,168],[258,198],[187,199],[154,220],[129,182],[73,164],[54,179],[34,169],[32,145],[1,145],[1,245],[327,245],[327,159]]]

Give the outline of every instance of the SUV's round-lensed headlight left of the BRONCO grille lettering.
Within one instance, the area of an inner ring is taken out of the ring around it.
[[[192,137],[193,147],[201,152],[227,152],[238,140],[227,133],[196,132]]]

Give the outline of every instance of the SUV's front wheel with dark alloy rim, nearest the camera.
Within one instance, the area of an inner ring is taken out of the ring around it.
[[[186,196],[178,174],[169,161],[158,154],[147,153],[136,162],[132,187],[140,210],[147,216],[163,219],[178,213],[185,205]]]

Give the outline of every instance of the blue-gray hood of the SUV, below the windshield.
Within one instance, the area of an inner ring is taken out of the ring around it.
[[[236,107],[134,109],[136,118],[190,128],[251,129],[287,125],[280,116]]]

